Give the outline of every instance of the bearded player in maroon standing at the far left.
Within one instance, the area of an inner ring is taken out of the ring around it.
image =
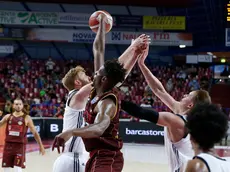
[[[6,124],[6,138],[3,151],[2,167],[4,172],[10,172],[14,168],[15,172],[21,172],[25,168],[27,129],[33,133],[35,140],[39,144],[39,151],[45,154],[41,138],[36,131],[33,121],[28,114],[23,112],[23,102],[17,98],[14,100],[12,114],[7,114],[0,121],[0,127]]]

